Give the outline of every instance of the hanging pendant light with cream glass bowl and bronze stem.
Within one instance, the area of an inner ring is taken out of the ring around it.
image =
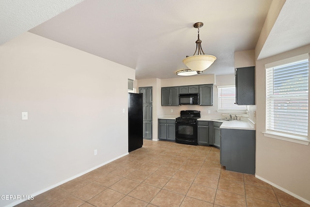
[[[197,22],[194,24],[194,28],[198,29],[196,50],[193,56],[186,56],[186,58],[183,60],[183,63],[186,64],[189,69],[193,71],[199,71],[200,73],[210,67],[210,65],[213,64],[214,61],[217,59],[213,55],[205,55],[202,50],[202,41],[199,39],[199,28],[201,28],[202,26],[202,22]]]

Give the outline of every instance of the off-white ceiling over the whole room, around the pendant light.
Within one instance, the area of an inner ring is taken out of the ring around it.
[[[176,78],[176,71],[186,69],[182,60],[195,51],[197,29],[193,28],[193,24],[201,21],[204,23],[200,29],[202,49],[206,54],[217,57],[216,62],[201,75],[232,74],[234,52],[255,48],[272,2],[84,0],[77,4],[80,1],[82,0],[0,1],[0,26],[5,28],[0,33],[4,37],[0,39],[0,44],[29,30],[136,69],[136,79]],[[74,6],[75,4],[77,5]],[[72,8],[68,9],[70,7]],[[272,35],[268,37],[262,50],[264,52],[260,53],[261,57],[288,50],[277,36],[278,32],[287,31],[286,20],[294,25],[293,32],[288,36],[302,32],[303,39],[296,45],[310,44],[309,32],[304,33],[305,24],[310,28],[309,7],[308,0],[286,1],[283,13],[281,11],[277,19],[279,27],[270,32]],[[307,18],[302,28],[296,26],[294,18],[296,15],[300,16],[299,9],[304,10],[301,13],[304,14],[301,15],[302,21]],[[62,11],[65,12],[61,13]],[[55,17],[51,18],[52,16]],[[295,46],[293,44],[289,47],[292,49]]]

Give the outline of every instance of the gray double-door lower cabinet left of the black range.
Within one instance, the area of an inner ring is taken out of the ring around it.
[[[158,119],[158,139],[175,141],[174,119]]]

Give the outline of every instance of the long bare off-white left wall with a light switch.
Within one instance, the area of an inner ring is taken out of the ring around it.
[[[135,70],[30,32],[1,45],[0,195],[36,195],[126,155],[127,79]]]

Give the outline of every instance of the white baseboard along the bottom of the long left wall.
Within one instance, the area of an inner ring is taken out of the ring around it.
[[[106,165],[106,164],[108,164],[108,163],[110,163],[110,162],[112,162],[112,161],[114,161],[114,160],[116,160],[116,159],[120,159],[120,158],[122,158],[122,157],[124,157],[124,156],[126,156],[126,155],[128,155],[128,154],[129,154],[129,153],[127,152],[127,153],[125,153],[125,154],[123,154],[123,155],[121,155],[121,156],[118,156],[118,157],[116,157],[116,158],[110,159],[109,161],[106,161],[106,162],[104,162],[104,163],[101,163],[101,164],[99,164],[99,165],[97,165],[97,166],[95,166],[95,167],[93,167],[93,168],[91,168],[91,169],[88,169],[88,170],[86,170],[86,171],[84,171],[84,172],[82,172],[82,173],[79,173],[78,175],[74,175],[74,176],[72,176],[72,177],[69,177],[68,179],[62,180],[61,182],[56,183],[56,184],[54,184],[54,185],[51,185],[51,186],[49,186],[49,187],[47,187],[47,188],[45,188],[45,189],[42,189],[41,191],[34,192],[34,193],[32,193],[31,195],[32,195],[32,196],[37,196],[37,195],[39,195],[39,194],[41,194],[41,193],[44,193],[44,192],[46,192],[46,191],[49,191],[49,190],[51,190],[51,189],[53,189],[53,188],[55,188],[55,187],[57,187],[57,186],[62,185],[63,183],[66,183],[66,182],[68,182],[68,181],[70,181],[70,180],[73,180],[73,179],[75,179],[75,178],[77,178],[77,177],[79,177],[79,176],[85,175],[85,174],[87,174],[87,173],[89,173],[89,172],[91,172],[91,171],[93,171],[93,170],[95,170],[95,169],[97,169],[97,168],[99,168],[99,167],[102,167],[102,166],[104,166],[104,165]],[[24,202],[24,201],[27,201],[27,200],[17,200],[16,202],[13,202],[13,203],[11,203],[11,204],[5,206],[5,207],[14,207],[14,206],[16,206],[17,204],[20,204],[20,203],[22,203],[22,202]]]

